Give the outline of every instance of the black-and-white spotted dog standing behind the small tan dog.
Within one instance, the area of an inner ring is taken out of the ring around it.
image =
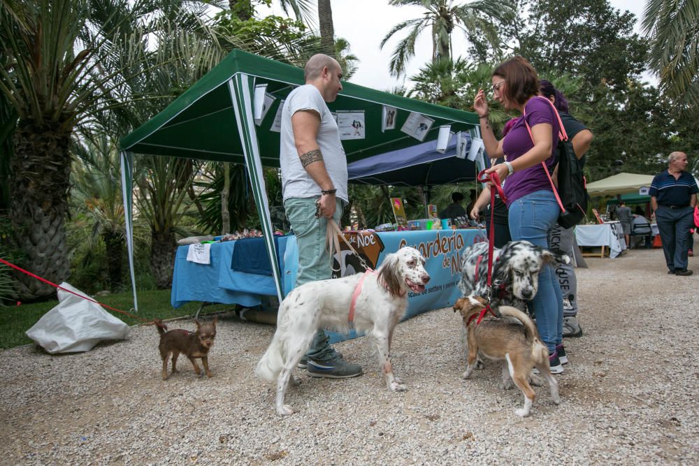
[[[539,272],[544,265],[556,268],[562,263],[570,263],[570,257],[528,241],[511,241],[502,249],[494,248],[491,307],[494,310],[500,306],[514,306],[526,311],[525,302],[536,296]],[[464,249],[459,269],[459,289],[463,296],[488,296],[487,242]]]

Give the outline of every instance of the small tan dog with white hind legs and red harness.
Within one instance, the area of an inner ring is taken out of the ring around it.
[[[524,393],[524,407],[514,411],[517,416],[528,416],[534,402],[535,394],[529,385],[532,367],[549,382],[551,398],[558,405],[559,384],[549,370],[549,351],[541,342],[533,321],[517,307],[500,306],[502,319],[486,318],[477,324],[475,317],[486,303],[480,296],[468,296],[459,298],[454,305],[454,311],[459,311],[463,317],[468,345],[468,365],[463,378],[468,379],[473,373],[480,351],[489,359],[503,362],[503,388],[510,388],[510,382],[514,381]]]

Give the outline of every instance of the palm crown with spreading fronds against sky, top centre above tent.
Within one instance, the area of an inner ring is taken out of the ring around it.
[[[492,19],[503,19],[512,14],[507,1],[477,0],[457,3],[454,0],[390,0],[394,6],[419,6],[424,9],[422,17],[396,24],[383,38],[380,48],[398,31],[408,29],[408,36],[396,45],[389,64],[392,75],[405,73],[405,66],[415,56],[415,41],[426,30],[432,38],[432,59],[452,57],[452,32],[461,29],[466,38],[480,31],[495,47],[499,43],[498,32]]]

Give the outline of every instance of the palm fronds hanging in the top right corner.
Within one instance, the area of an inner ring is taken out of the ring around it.
[[[649,64],[661,87],[699,104],[699,7],[696,0],[647,0],[643,29],[649,35]]]

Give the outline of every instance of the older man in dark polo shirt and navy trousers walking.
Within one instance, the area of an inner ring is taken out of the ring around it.
[[[668,170],[653,178],[649,193],[663,240],[668,273],[675,275],[692,275],[693,272],[687,270],[688,232],[693,223],[698,188],[685,168],[687,154],[672,152],[668,157]]]

